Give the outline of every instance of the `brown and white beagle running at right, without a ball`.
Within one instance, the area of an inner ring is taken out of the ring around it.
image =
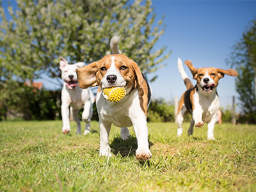
[[[195,68],[189,60],[185,61],[185,64],[189,67],[193,79],[196,79],[196,85],[193,86],[189,80],[188,75],[182,66],[182,61],[179,58],[178,69],[180,76],[186,84],[187,91],[183,93],[179,101],[177,136],[182,134],[182,122],[184,116],[187,113],[190,113],[192,115],[192,120],[188,129],[188,134],[193,134],[194,125],[195,127],[200,128],[204,127],[204,123],[206,122],[208,124],[207,139],[215,140],[213,131],[217,111],[220,108],[220,99],[216,88],[219,84],[219,80],[223,78],[225,74],[234,77],[238,76],[238,74],[236,70],[233,69],[224,70],[214,67]]]

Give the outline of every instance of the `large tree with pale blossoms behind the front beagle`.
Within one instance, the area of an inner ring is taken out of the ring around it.
[[[120,50],[146,76],[170,56],[170,52],[163,55],[166,47],[153,49],[164,27],[163,18],[154,22],[151,0],[16,1],[16,10],[8,7],[11,20],[0,8],[0,80],[14,76],[33,81],[43,72],[60,77],[60,56],[70,63],[100,60],[111,53],[113,35],[122,36]]]

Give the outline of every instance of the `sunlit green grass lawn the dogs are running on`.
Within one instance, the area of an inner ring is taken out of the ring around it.
[[[82,123],[84,126],[84,123]],[[112,127],[114,157],[99,157],[99,125],[68,135],[61,121],[0,122],[0,191],[256,191],[256,126],[216,125],[176,137],[174,123],[148,123],[153,157],[141,163],[133,128],[120,139]]]

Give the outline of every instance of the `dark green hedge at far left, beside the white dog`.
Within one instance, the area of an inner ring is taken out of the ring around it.
[[[18,81],[0,81],[0,120],[60,118],[60,90],[37,90]]]

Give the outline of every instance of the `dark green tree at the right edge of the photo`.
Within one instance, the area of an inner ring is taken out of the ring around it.
[[[252,20],[243,38],[234,45],[228,63],[237,68],[236,91],[240,95],[244,115],[252,122],[254,117],[251,117],[256,113],[256,20]]]

